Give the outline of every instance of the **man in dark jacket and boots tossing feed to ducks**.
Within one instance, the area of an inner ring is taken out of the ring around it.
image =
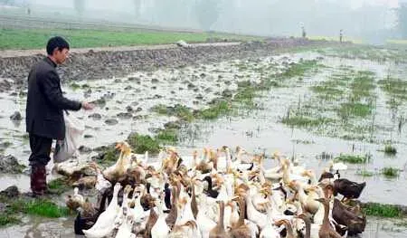
[[[52,139],[65,138],[63,110],[93,109],[89,102],[68,100],[62,95],[61,80],[55,70],[65,62],[70,45],[62,37],[47,43],[48,56],[36,63],[28,75],[26,130],[31,155],[31,190],[33,195],[47,193],[46,165],[51,160]]]

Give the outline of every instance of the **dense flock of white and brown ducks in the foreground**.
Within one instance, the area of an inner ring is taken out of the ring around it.
[[[75,233],[101,237],[346,237],[363,233],[366,217],[356,200],[365,183],[341,178],[344,164],[330,163],[319,179],[275,153],[277,167],[266,169],[264,155],[242,148],[194,151],[181,157],[166,148],[156,162],[117,145],[115,165],[97,173],[98,201],[79,189],[66,201],[79,211]]]

